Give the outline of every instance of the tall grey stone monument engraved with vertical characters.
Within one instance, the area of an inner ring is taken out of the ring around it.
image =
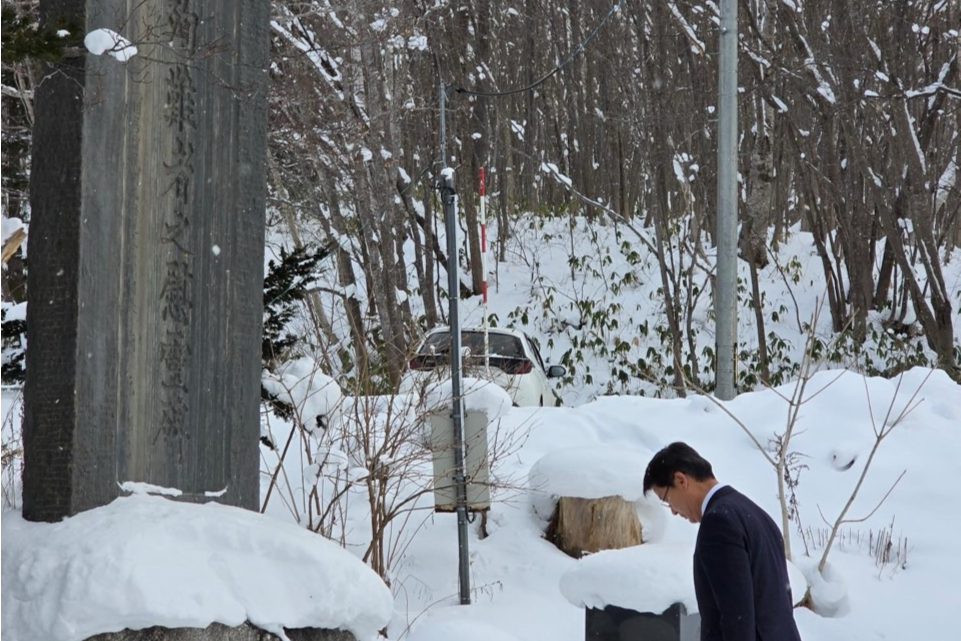
[[[48,65],[36,92],[23,515],[125,481],[255,508],[269,3],[40,11],[138,54]]]

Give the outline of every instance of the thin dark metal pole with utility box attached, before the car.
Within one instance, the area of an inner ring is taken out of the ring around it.
[[[457,497],[458,587],[461,605],[470,604],[470,554],[467,530],[467,473],[464,465],[464,404],[461,391],[460,269],[457,261],[457,196],[454,170],[447,166],[447,87],[438,76],[440,100],[440,193],[447,235],[447,303],[450,326],[451,420],[454,425],[454,486]]]

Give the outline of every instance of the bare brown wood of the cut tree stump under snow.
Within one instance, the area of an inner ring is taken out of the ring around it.
[[[547,526],[547,540],[575,559],[585,553],[639,545],[641,522],[634,504],[620,496],[562,496]]]

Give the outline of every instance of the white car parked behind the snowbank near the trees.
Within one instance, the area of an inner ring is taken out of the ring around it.
[[[421,392],[431,384],[450,379],[450,328],[438,327],[428,332],[424,342],[408,363],[399,391]],[[517,406],[560,405],[549,379],[564,376],[562,365],[544,366],[534,342],[524,332],[514,329],[461,329],[461,366],[464,377],[492,381],[503,388]]]

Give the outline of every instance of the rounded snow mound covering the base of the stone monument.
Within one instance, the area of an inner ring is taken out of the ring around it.
[[[250,621],[372,639],[390,590],[340,546],[236,507],[135,495],[59,523],[2,518],[4,639],[82,641],[150,626]]]

